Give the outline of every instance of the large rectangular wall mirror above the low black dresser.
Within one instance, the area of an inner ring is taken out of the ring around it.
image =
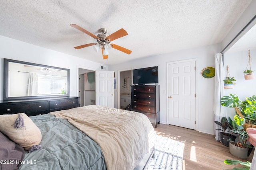
[[[69,69],[4,59],[4,100],[69,96]]]

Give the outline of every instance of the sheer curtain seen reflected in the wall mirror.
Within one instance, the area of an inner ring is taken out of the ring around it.
[[[38,94],[38,74],[29,73],[27,96],[36,96]]]

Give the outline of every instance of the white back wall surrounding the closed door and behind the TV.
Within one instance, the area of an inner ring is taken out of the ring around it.
[[[220,52],[220,44],[209,45],[205,47],[177,51],[174,53],[162,54],[142,59],[133,60],[123,64],[110,65],[109,70],[124,70],[127,68],[144,68],[158,66],[159,85],[160,85],[160,123],[166,124],[167,115],[167,94],[166,94],[166,63],[172,61],[182,61],[187,59],[197,59],[197,110],[198,126],[197,130],[204,133],[214,133],[213,128],[213,98],[214,98],[214,78],[206,79],[200,75],[202,68],[213,66],[215,64],[214,56]],[[117,91],[115,91],[116,93]],[[117,104],[117,95],[115,95],[115,107]]]

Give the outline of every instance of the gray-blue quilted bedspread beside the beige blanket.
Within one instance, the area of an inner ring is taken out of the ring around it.
[[[41,149],[28,153],[19,170],[104,170],[98,144],[66,119],[45,114],[30,117],[42,133]]]

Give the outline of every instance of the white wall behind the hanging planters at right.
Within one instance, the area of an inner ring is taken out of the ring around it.
[[[252,57],[251,66],[252,70],[255,70],[253,80],[245,80],[243,71],[246,70],[248,64],[248,51],[240,52],[226,52],[224,54],[224,68],[228,66],[230,76],[236,79],[236,84],[233,89],[225,89],[224,95],[237,94],[240,100],[244,101],[246,97],[256,95],[256,50],[250,50],[250,56]],[[250,70],[250,67],[247,68]],[[225,71],[226,78],[226,71]],[[226,109],[226,117],[234,118],[236,115],[234,108]]]

